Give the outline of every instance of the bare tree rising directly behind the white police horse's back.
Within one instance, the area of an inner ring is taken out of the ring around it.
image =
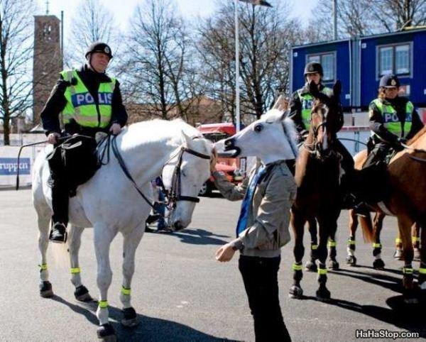
[[[190,36],[170,0],[148,0],[131,20],[127,60],[131,102],[145,116],[184,117],[195,94]]]

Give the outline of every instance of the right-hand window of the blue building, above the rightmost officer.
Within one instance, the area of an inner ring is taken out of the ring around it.
[[[386,74],[410,75],[410,44],[387,45],[378,48],[378,77]]]

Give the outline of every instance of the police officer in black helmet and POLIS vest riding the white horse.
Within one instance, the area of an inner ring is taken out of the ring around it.
[[[41,111],[48,143],[55,146],[59,145],[58,138],[61,135],[94,137],[99,131],[117,135],[126,125],[127,113],[121,99],[119,82],[105,73],[113,57],[111,48],[106,43],[93,43],[87,48],[85,57],[86,62],[79,70],[60,72],[58,82]],[[67,238],[70,189],[59,149],[55,149],[48,161],[53,206],[50,240],[64,243]]]

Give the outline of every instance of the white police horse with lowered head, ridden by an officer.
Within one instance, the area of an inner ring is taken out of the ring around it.
[[[116,138],[116,145],[139,189],[151,194],[151,180],[163,171],[165,187],[175,194],[175,209],[170,224],[185,228],[190,224],[197,194],[208,179],[212,145],[192,126],[181,120],[146,121],[124,129]],[[40,295],[53,295],[48,281],[46,250],[51,209],[50,175],[45,156],[52,150],[46,148],[35,160],[33,170],[33,204],[38,216],[40,249]],[[99,338],[114,340],[115,333],[108,320],[107,292],[111,284],[109,246],[118,232],[124,236],[123,287],[120,299],[123,304],[126,326],[137,324],[136,311],[131,307],[131,279],[134,272],[136,248],[145,230],[150,206],[141,198],[131,181],[126,178],[119,162],[111,152],[111,159],[91,180],[77,188],[70,199],[70,228],[68,248],[71,263],[71,282],[75,297],[91,300],[82,285],[78,251],[84,228],[94,228],[94,249],[97,258],[97,286],[99,288]]]

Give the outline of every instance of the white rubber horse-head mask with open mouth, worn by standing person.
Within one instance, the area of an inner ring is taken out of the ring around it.
[[[297,133],[287,114],[287,111],[271,109],[244,130],[222,140],[224,150],[234,150],[234,157],[256,156],[263,164],[297,158]]]

